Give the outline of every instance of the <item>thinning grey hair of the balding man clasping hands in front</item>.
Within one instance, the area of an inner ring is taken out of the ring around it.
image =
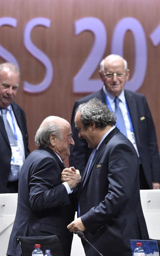
[[[63,125],[58,124],[57,121],[65,120],[59,116],[48,116],[40,124],[36,132],[35,143],[37,146],[47,147],[50,145],[49,136],[54,134],[55,137],[63,140]]]

